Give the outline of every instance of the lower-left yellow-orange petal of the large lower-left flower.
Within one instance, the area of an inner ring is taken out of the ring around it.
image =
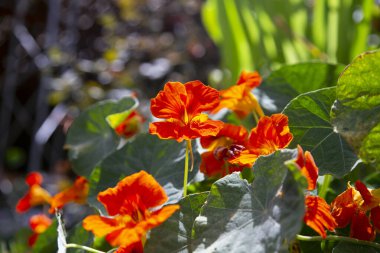
[[[97,237],[103,237],[114,231],[119,231],[120,229],[124,229],[124,224],[118,222],[117,219],[102,217],[99,215],[87,216],[83,220],[82,225],[84,229],[91,231]]]

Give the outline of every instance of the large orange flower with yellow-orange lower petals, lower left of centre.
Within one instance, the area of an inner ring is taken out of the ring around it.
[[[179,209],[179,205],[168,205],[161,209],[168,197],[159,183],[145,171],[125,177],[114,188],[98,194],[109,216],[90,215],[83,221],[83,227],[95,236],[103,237],[117,252],[137,249],[143,245],[146,233]],[[153,210],[154,208],[154,210]],[[142,248],[142,246],[140,247]]]

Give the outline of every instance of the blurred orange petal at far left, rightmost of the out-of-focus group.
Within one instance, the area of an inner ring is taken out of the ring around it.
[[[78,177],[70,188],[54,195],[50,203],[49,212],[54,213],[55,209],[61,209],[69,202],[84,204],[87,200],[88,190],[87,179]]]

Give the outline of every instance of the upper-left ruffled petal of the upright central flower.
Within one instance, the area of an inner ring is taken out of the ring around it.
[[[153,116],[162,119],[182,119],[185,114],[187,92],[180,82],[168,82],[164,90],[151,99],[150,110]]]

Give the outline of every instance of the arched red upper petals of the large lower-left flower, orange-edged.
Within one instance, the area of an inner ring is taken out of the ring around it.
[[[145,208],[160,206],[168,199],[164,189],[154,177],[142,170],[125,177],[115,187],[100,192],[98,200],[110,215],[116,215],[120,213],[125,202],[136,196],[143,201]]]

